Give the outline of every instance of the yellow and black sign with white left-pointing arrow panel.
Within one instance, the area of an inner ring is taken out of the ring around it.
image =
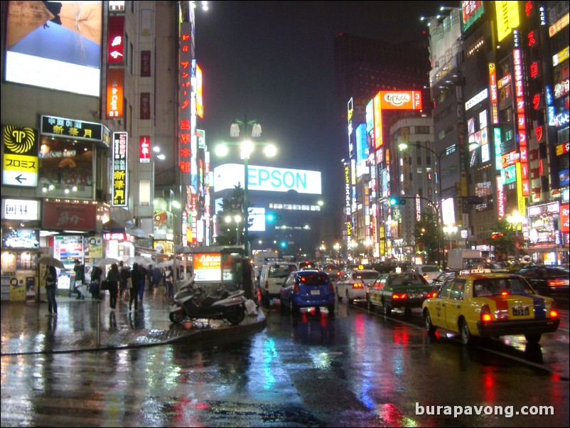
[[[28,127],[4,126],[2,184],[38,186],[38,134]]]

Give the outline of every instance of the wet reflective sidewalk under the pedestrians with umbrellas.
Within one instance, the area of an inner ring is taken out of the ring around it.
[[[262,331],[262,310],[245,316],[237,326],[220,320],[175,324],[168,319],[170,302],[163,288],[144,292],[139,311],[129,312],[128,301],[117,300],[117,310],[104,300],[57,297],[58,316],[48,317],[48,303],[1,302],[1,355],[96,351],[166,343],[235,337]],[[97,324],[99,338],[97,339]]]

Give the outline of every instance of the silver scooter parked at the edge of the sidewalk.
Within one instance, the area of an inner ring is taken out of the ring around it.
[[[174,304],[168,317],[173,323],[184,319],[222,319],[231,324],[239,324],[245,318],[244,291],[230,294],[225,289],[217,289],[207,294],[202,287],[190,280],[174,294]]]

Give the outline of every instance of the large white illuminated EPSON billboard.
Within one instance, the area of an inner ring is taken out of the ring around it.
[[[249,191],[321,194],[321,172],[300,169],[253,166],[247,168]],[[244,166],[225,164],[214,168],[214,188],[216,192],[232,189],[240,183],[243,186]]]

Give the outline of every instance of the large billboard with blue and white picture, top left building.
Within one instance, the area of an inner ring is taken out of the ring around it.
[[[99,97],[101,39],[102,1],[9,1],[6,81]]]

